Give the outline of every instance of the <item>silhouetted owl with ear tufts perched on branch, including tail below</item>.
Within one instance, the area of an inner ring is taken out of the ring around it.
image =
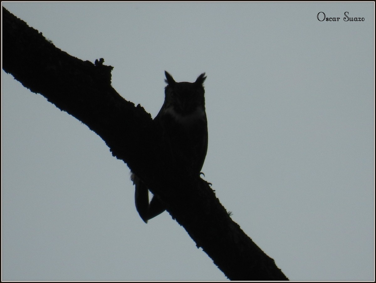
[[[208,123],[205,113],[206,79],[202,73],[195,82],[175,82],[165,71],[165,100],[153,122],[162,131],[165,148],[169,149],[176,166],[200,175],[208,149]],[[165,205],[158,195],[149,203],[149,190],[134,173],[136,209],[145,223],[163,211]]]

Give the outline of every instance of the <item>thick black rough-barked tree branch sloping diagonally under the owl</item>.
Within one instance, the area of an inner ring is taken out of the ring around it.
[[[82,61],[3,8],[3,69],[96,132],[230,280],[288,280],[232,221],[209,184],[174,166],[150,114],[111,87],[111,66]]]

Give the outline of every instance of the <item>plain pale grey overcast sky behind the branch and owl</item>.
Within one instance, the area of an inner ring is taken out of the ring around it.
[[[164,70],[206,72],[202,171],[232,219],[290,280],[374,280],[373,2],[3,6],[152,117]],[[99,136],[2,80],[3,280],[226,280],[167,212],[144,224]]]

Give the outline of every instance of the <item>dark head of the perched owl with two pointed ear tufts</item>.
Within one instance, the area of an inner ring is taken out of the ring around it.
[[[164,106],[167,113],[176,118],[205,113],[205,73],[198,76],[196,82],[175,82],[168,72],[165,71],[165,75],[167,86]]]

